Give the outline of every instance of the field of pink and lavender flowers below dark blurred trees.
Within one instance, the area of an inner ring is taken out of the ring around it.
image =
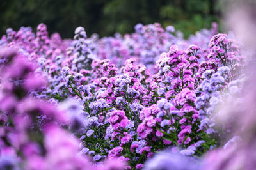
[[[72,40],[9,28],[0,169],[254,169],[247,64],[216,23],[188,39],[157,23]]]

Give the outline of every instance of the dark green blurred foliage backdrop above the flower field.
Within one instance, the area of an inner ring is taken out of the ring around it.
[[[49,33],[72,38],[83,26],[87,34],[113,36],[131,33],[138,23],[159,22],[172,25],[188,37],[202,28],[220,22],[220,4],[216,0],[0,0],[0,35],[8,27],[35,28],[41,22]]]

